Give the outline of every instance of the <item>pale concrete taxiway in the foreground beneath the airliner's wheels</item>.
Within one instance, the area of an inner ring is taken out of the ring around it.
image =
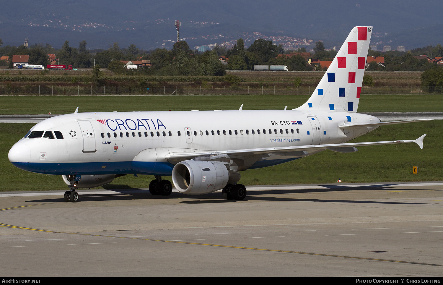
[[[62,194],[0,194],[4,276],[443,275],[443,182],[250,186],[243,201]]]

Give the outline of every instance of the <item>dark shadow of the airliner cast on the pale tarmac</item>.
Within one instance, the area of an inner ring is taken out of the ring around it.
[[[306,201],[306,202],[338,202],[338,203],[373,203],[373,204],[401,204],[401,205],[435,205],[435,203],[411,203],[411,202],[387,202],[387,201],[371,201],[371,200],[343,200],[343,199],[299,199],[299,198],[282,198],[276,195],[281,194],[302,194],[302,193],[316,193],[316,192],[333,192],[333,191],[353,191],[353,190],[385,190],[385,191],[426,191],[426,189],[411,189],[411,188],[395,188],[393,186],[398,183],[378,184],[369,186],[346,186],[346,185],[320,185],[325,188],[319,189],[272,189],[269,190],[248,190],[248,195],[243,201]],[[214,192],[205,195],[185,195],[182,193],[173,192],[169,196],[151,195],[148,190],[144,189],[112,189],[119,193],[109,194],[82,194],[79,191],[80,199],[78,203],[91,201],[118,201],[118,200],[135,200],[135,199],[187,199],[179,201],[179,203],[186,204],[202,204],[202,203],[232,203],[242,202],[235,200],[225,200],[220,192]],[[136,191],[136,192],[134,192]],[[435,191],[435,190],[429,190]],[[261,195],[273,195],[261,196]],[[198,197],[198,198],[197,198]],[[197,198],[190,200],[192,198]],[[29,200],[30,203],[50,203],[63,202],[63,197],[55,199],[35,199]]]

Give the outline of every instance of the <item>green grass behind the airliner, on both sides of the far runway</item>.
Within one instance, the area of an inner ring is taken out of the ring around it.
[[[441,111],[439,95],[365,95],[360,112]],[[38,114],[80,112],[190,110],[190,109],[283,109],[302,105],[307,96],[150,96],[150,97],[1,97],[0,113]],[[66,190],[60,176],[25,172],[12,166],[8,151],[33,124],[0,124],[0,191]],[[412,140],[427,133],[424,149],[416,144],[368,146],[354,153],[323,151],[274,167],[241,173],[245,185],[442,181],[441,142],[443,121],[384,126],[354,141]],[[419,173],[412,174],[418,166]],[[148,187],[152,176],[123,176],[105,188]]]

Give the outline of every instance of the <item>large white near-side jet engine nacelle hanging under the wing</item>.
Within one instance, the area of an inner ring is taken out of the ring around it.
[[[218,161],[185,160],[172,169],[172,182],[184,194],[208,194],[238,180],[239,172],[228,170]]]

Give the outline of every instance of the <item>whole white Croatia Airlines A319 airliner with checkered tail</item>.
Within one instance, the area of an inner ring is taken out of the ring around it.
[[[382,125],[357,113],[372,27],[354,27],[311,97],[296,109],[79,113],[36,124],[10,149],[9,161],[36,173],[60,175],[64,201],[78,188],[99,187],[124,175],[153,175],[152,195],[202,195],[222,190],[243,200],[241,172],[331,150],[423,139],[347,143]]]

